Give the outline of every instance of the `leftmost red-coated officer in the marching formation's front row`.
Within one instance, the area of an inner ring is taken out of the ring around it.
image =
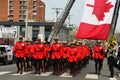
[[[25,57],[25,51],[26,50],[26,44],[23,42],[23,37],[20,35],[19,41],[15,43],[13,51],[15,52],[16,57],[16,65],[17,65],[17,73],[22,74],[23,73],[23,65],[24,65],[24,57]]]

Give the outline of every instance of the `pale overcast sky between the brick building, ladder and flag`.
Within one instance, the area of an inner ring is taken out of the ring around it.
[[[55,10],[52,8],[65,8],[66,3],[69,0],[42,0],[46,5],[46,20],[55,20],[56,19],[56,13]],[[76,0],[71,11],[71,24],[78,25],[80,24],[83,9],[84,9],[84,2],[85,0]],[[62,11],[62,10],[60,10]],[[120,13],[119,13],[120,14]],[[68,19],[66,20],[68,22]],[[117,32],[120,32],[120,16],[118,18],[117,22]]]

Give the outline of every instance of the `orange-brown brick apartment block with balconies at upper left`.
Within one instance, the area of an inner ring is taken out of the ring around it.
[[[28,1],[28,20],[45,21],[45,4],[41,0],[0,0],[0,21],[25,21]]]

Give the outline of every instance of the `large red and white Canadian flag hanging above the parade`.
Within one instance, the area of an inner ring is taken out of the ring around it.
[[[116,0],[86,0],[76,38],[106,40]]]

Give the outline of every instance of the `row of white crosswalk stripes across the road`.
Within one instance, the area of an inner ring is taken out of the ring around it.
[[[20,73],[15,73],[15,72],[11,72],[11,71],[0,71],[0,76],[1,75],[5,75],[5,74],[10,74],[11,76],[23,76],[23,75],[27,75],[27,74],[30,74],[30,73],[33,73],[32,71],[31,72],[23,72],[23,74],[20,74]],[[47,77],[49,75],[51,75],[52,72],[45,72],[45,73],[41,73],[40,75],[39,74],[33,74],[34,76],[43,76],[43,77]],[[69,72],[65,72],[61,75],[59,75],[59,77],[63,77],[63,78],[72,78],[73,76],[70,75]],[[87,79],[98,79],[98,75],[97,74],[86,74],[85,78]],[[115,77],[113,78],[109,78],[109,80],[117,80]]]

